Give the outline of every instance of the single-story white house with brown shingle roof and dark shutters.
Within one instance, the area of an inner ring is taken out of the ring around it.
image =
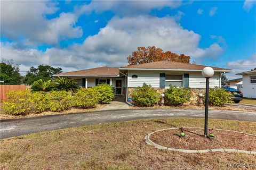
[[[178,63],[170,61],[157,61],[138,65],[122,67],[98,67],[94,69],[79,70],[60,73],[54,77],[69,77],[77,81],[79,86],[90,88],[101,83],[108,83],[115,88],[115,95],[125,96],[143,83],[150,84],[159,92],[170,85],[177,87],[190,87],[203,90],[205,78],[202,75],[204,65]],[[222,73],[232,72],[229,69],[212,67],[214,75],[210,78],[210,88],[221,87]]]

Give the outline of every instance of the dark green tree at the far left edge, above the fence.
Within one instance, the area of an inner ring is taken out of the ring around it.
[[[13,60],[2,60],[0,63],[0,80],[4,81],[1,84],[18,85],[22,82],[19,65]]]

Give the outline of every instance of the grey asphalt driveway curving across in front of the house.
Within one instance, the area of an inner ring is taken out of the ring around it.
[[[0,132],[1,139],[3,139],[22,134],[51,131],[83,125],[163,117],[203,118],[204,110],[127,109],[19,118],[14,120],[1,120]],[[209,118],[256,122],[256,112],[209,111]]]

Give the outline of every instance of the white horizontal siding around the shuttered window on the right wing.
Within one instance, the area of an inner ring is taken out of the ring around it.
[[[182,72],[182,71],[128,71],[128,87],[142,86],[143,83],[150,84],[153,88],[159,88],[160,73],[165,74],[189,74],[190,88],[205,88],[205,78],[201,72]],[[132,78],[132,75],[138,75],[138,78]],[[220,73],[215,73],[210,79],[210,88],[221,87]]]

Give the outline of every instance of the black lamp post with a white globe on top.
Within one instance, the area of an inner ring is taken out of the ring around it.
[[[204,112],[204,137],[207,137],[208,133],[208,106],[209,106],[209,79],[213,76],[214,70],[212,67],[204,67],[202,70],[203,77],[206,78],[205,89],[205,112]]]

